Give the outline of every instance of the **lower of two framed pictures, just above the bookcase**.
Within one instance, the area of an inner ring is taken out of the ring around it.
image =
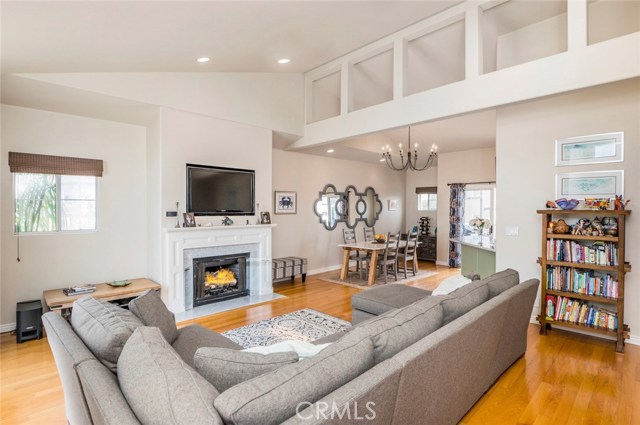
[[[613,198],[623,192],[623,170],[556,174],[556,199]]]

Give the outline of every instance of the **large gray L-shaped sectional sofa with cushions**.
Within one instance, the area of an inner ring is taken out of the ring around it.
[[[198,325],[176,330],[151,296],[135,314],[94,300],[71,325],[55,313],[43,322],[72,425],[455,424],[524,354],[537,288],[506,270],[377,310],[371,296],[377,313],[300,361],[262,360]]]

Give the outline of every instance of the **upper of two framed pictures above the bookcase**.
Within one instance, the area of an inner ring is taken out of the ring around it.
[[[594,134],[556,140],[556,165],[601,164],[624,160],[624,133]]]

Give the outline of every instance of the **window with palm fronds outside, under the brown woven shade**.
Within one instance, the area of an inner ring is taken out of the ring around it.
[[[15,231],[96,229],[97,178],[14,173]]]

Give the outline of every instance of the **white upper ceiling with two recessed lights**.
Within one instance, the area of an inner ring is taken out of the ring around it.
[[[305,72],[457,3],[3,0],[2,72]]]

